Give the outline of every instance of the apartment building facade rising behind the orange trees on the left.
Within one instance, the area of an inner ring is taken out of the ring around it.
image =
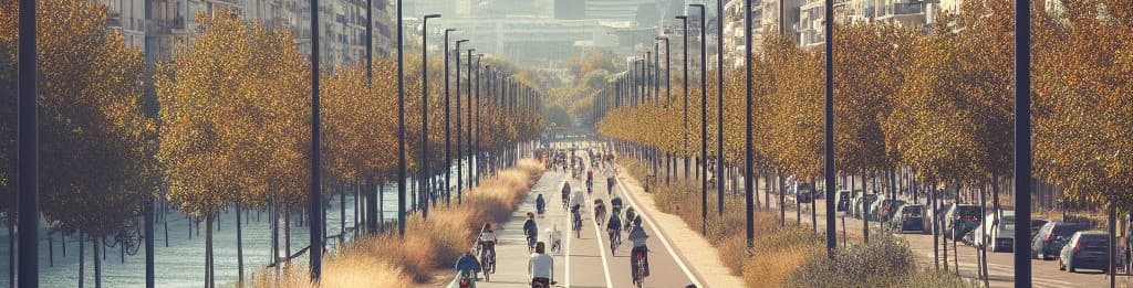
[[[109,8],[108,26],[122,33],[126,45],[145,52],[147,59],[170,60],[187,49],[203,30],[196,16],[237,14],[247,23],[272,29],[288,29],[304,53],[310,53],[310,18],[307,0],[94,0]],[[374,51],[389,55],[393,50],[393,25],[387,0],[374,3]],[[321,56],[330,68],[359,62],[365,56],[366,1],[322,1],[320,11]],[[145,11],[150,9],[150,21]],[[150,38],[146,41],[148,27]]]

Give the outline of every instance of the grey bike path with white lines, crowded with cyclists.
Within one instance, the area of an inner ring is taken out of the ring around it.
[[[580,234],[576,236],[570,230],[569,212],[562,207],[561,187],[569,180],[573,190],[586,191],[586,183],[581,178],[570,178],[562,171],[547,171],[536,183],[533,193],[523,201],[520,208],[512,213],[511,219],[502,229],[497,229],[500,243],[496,245],[497,272],[491,276],[491,281],[478,282],[477,287],[530,287],[527,278],[527,260],[529,253],[526,239],[522,234],[525,213],[535,211],[535,199],[543,194],[547,200],[547,211],[542,218],[537,218],[540,235],[538,241],[547,241],[547,228],[557,226],[562,230],[564,248],[561,254],[554,254],[554,287],[631,287],[630,276],[630,244],[625,239],[625,232],[621,234],[623,243],[619,246],[616,254],[611,253],[610,237],[604,228],[599,228],[594,221],[593,203],[595,199],[602,199],[610,203],[611,193],[606,191],[605,178],[608,174],[595,173],[595,185],[593,194],[587,197],[588,206],[583,208],[583,225]],[[621,184],[614,187],[614,194],[620,195],[627,207],[636,206],[636,200],[631,194],[622,189]],[[583,193],[585,194],[585,193]],[[639,209],[640,210],[640,209]],[[644,227],[650,235],[647,245],[649,252],[650,277],[646,279],[645,287],[685,287],[687,285],[700,286],[691,269],[678,256],[664,235],[657,233],[653,218],[644,215]],[[603,221],[603,225],[605,221]],[[604,226],[602,226],[604,227]],[[550,253],[550,243],[547,245]],[[453,283],[449,283],[453,287]]]

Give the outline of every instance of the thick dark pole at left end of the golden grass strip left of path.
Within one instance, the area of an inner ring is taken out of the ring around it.
[[[310,280],[318,282],[323,270],[323,195],[322,165],[318,154],[318,0],[310,0],[310,194],[307,215],[310,228]],[[400,7],[400,6],[399,6]],[[210,260],[211,262],[211,260]],[[210,263],[211,265],[211,263]],[[211,271],[211,269],[210,269]],[[211,273],[211,272],[210,272]],[[211,278],[215,276],[210,274]],[[210,285],[212,281],[210,281]]]

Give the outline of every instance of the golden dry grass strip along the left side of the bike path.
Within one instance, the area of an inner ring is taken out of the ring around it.
[[[278,278],[273,270],[261,271],[254,286],[399,288],[427,282],[471,246],[482,225],[505,221],[542,174],[537,160],[520,160],[466,191],[462,204],[438,207],[428,220],[419,213],[410,217],[404,238],[393,232],[360,237],[323,259],[320,285],[307,280],[301,265],[292,265]]]

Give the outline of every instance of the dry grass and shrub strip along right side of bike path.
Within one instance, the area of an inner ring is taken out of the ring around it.
[[[619,164],[636,178],[645,178],[648,167],[640,162],[620,159]],[[774,211],[756,211],[755,250],[747,247],[747,216],[743,198],[724,197],[724,213],[717,213],[717,194],[709,191],[708,217],[701,218],[700,183],[674,180],[658,183],[653,190],[657,209],[679,216],[719,251],[721,262],[747,287],[966,287],[954,276],[918,270],[912,252],[894,241],[840,248],[838,261],[824,261],[825,238],[809,226],[789,222],[781,227]],[[701,227],[702,230],[701,230]],[[874,265],[874,263],[885,264]],[[869,269],[842,269],[852,265]],[[862,283],[853,279],[872,280]],[[877,277],[874,277],[874,276]],[[830,281],[830,278],[838,280]],[[850,279],[850,280],[847,280]]]

